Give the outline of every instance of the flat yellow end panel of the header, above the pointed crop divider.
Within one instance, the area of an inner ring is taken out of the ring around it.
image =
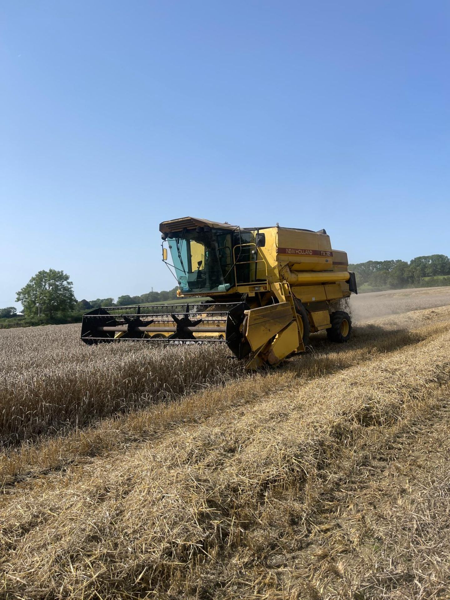
[[[294,316],[289,302],[271,304],[245,311],[245,338],[255,352],[281,329],[289,325]],[[298,346],[298,344],[297,344]]]

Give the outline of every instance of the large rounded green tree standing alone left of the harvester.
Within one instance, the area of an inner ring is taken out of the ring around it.
[[[26,316],[42,314],[52,319],[56,313],[73,310],[76,298],[72,282],[64,271],[39,271],[17,292]]]

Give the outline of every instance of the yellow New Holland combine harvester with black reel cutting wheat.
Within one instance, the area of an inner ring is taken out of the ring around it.
[[[349,339],[350,316],[335,309],[358,293],[355,274],[325,230],[241,229],[185,217],[164,221],[160,231],[163,260],[189,304],[97,308],[83,317],[83,341],[224,341],[257,368],[304,352],[311,332]]]

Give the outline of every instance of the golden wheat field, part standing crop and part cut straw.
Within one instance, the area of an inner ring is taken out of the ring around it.
[[[450,289],[352,311],[256,374],[0,331],[2,597],[450,598]]]

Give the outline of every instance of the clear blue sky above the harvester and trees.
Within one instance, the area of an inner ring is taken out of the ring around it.
[[[447,0],[4,0],[0,307],[175,284],[162,220],[450,253]]]

